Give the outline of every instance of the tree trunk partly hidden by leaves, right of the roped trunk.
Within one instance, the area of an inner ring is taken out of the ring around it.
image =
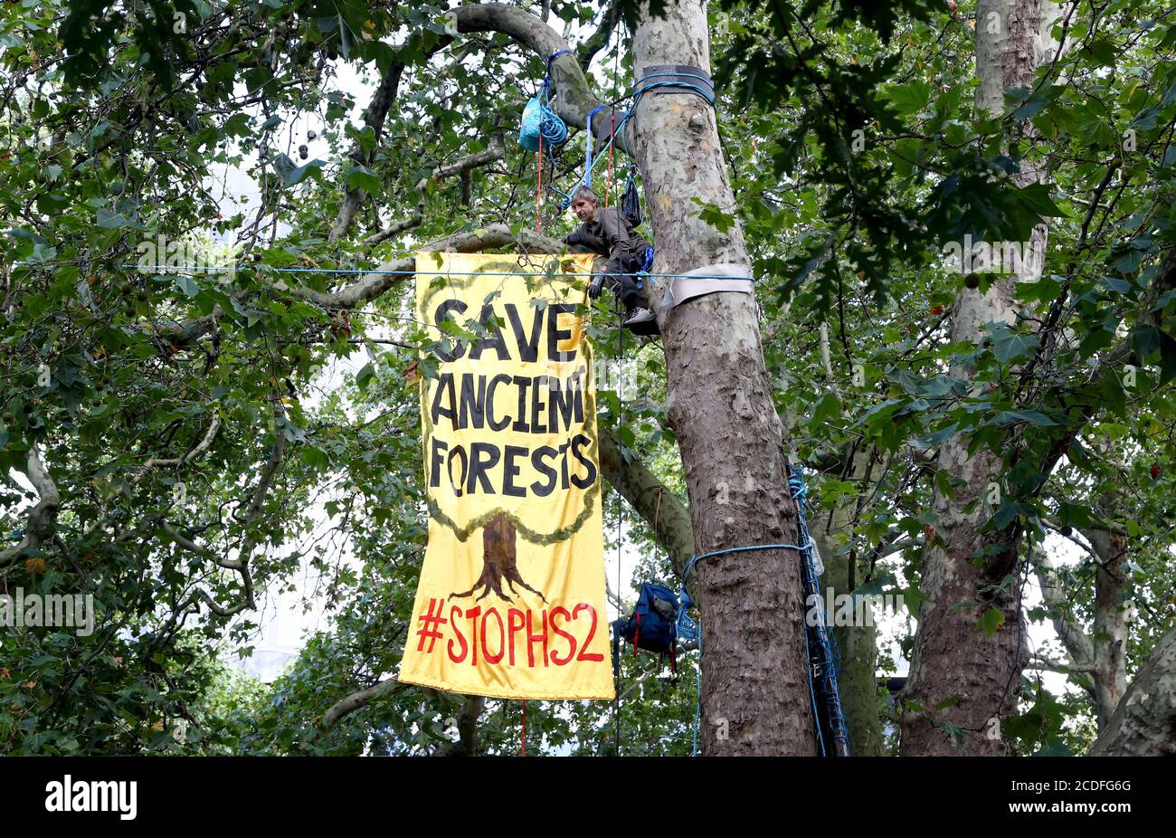
[[[980,0],[976,7],[976,105],[993,114],[1004,112],[1004,88],[1033,84],[1038,64],[1053,56],[1049,31],[1056,7],[1048,0]],[[1015,175],[1017,186],[1041,179],[1037,165],[1025,161]],[[1030,237],[1029,252],[1045,252],[1047,227],[1040,224]],[[1037,250],[1035,250],[1037,248]],[[964,288],[955,302],[951,340],[980,342],[987,322],[1011,324],[1013,299],[1018,282],[1035,281],[1041,265],[1018,265],[1009,275],[994,279],[989,290]],[[970,371],[953,368],[953,375],[970,378]],[[1000,718],[1015,703],[1022,670],[1029,663],[1021,588],[1002,584],[1015,573],[1018,544],[1005,544],[995,559],[977,566],[971,559],[983,546],[980,534],[987,520],[985,499],[991,485],[1001,485],[1002,457],[988,448],[968,453],[968,438],[956,435],[940,448],[940,468],[962,478],[951,498],[936,490],[936,532],[927,545],[921,592],[928,601],[918,614],[918,632],[903,691],[904,756],[1005,753]],[[974,504],[971,512],[967,512]],[[967,603],[968,605],[963,605]],[[993,633],[976,627],[993,608],[1001,625]],[[957,738],[960,739],[957,741]]]

